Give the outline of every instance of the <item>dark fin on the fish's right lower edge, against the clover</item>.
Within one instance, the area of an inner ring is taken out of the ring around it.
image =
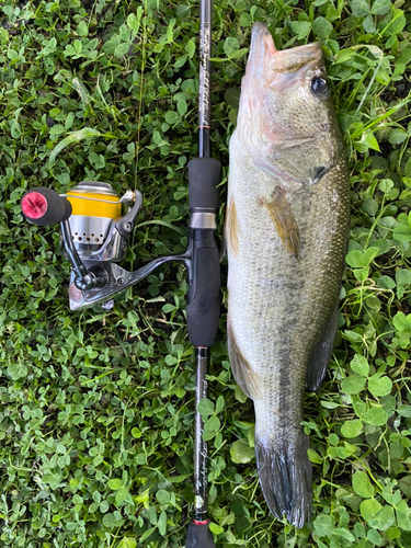
[[[332,312],[328,324],[324,329],[324,334],[320,342],[311,351],[311,355],[307,366],[306,385],[308,392],[318,392],[324,379],[327,368],[329,366],[332,347],[334,345],[336,327],[339,323],[339,307]]]

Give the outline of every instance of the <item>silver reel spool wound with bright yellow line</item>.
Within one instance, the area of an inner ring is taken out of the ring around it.
[[[68,191],[71,239],[80,256],[101,249],[113,221],[122,215],[122,203],[132,203],[133,197],[130,192],[119,198],[111,184],[98,181],[83,181]]]

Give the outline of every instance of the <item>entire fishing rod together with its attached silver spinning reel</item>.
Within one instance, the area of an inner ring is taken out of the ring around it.
[[[219,253],[215,239],[218,212],[217,184],[220,163],[210,158],[210,45],[212,1],[199,0],[198,158],[189,162],[190,237],[180,255],[155,259],[128,272],[118,265],[141,208],[139,191],[118,196],[109,183],[83,181],[67,194],[35,187],[24,194],[23,215],[38,226],[60,224],[62,253],[70,262],[69,305],[78,310],[95,305],[114,306],[113,298],[169,261],[187,270],[186,318],[195,355],[194,512],[186,548],[214,548],[207,504],[207,443],[197,411],[207,397],[209,347],[214,344],[220,313]],[[122,216],[122,206],[128,210]]]

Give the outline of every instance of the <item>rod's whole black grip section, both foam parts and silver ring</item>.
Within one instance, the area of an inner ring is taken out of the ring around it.
[[[215,239],[220,170],[220,162],[213,158],[189,162],[193,248],[186,316],[190,342],[196,347],[214,344],[220,316],[220,264]]]

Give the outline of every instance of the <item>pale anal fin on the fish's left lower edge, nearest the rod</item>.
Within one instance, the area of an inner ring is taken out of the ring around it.
[[[251,398],[254,401],[261,400],[262,393],[260,388],[260,375],[251,368],[248,361],[241,354],[236,338],[232,333],[229,320],[227,320],[227,342],[232,374],[236,377],[239,387],[247,397]]]

